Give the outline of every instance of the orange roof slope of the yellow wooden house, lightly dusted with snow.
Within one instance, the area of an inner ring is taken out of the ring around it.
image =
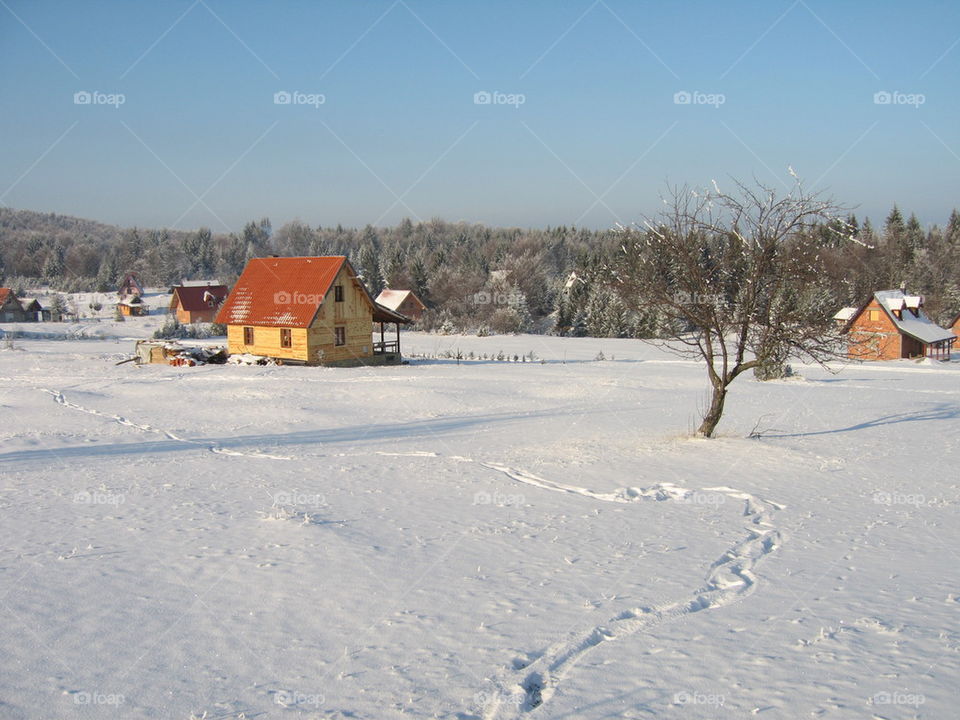
[[[309,327],[345,262],[342,255],[253,258],[217,313],[217,322]]]

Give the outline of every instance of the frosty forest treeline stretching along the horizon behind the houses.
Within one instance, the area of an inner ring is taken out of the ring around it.
[[[896,207],[882,228],[847,221],[856,242],[827,227],[809,238],[830,258],[823,285],[838,309],[905,284],[926,296],[935,320],[946,323],[960,312],[960,213],[927,230]],[[628,311],[611,289],[616,230],[404,219],[362,229],[295,221],[274,231],[264,218],[239,234],[215,234],[0,209],[0,241],[0,283],[18,292],[41,285],[111,292],[128,271],[148,286],[212,278],[232,284],[252,257],[346,255],[374,295],[384,287],[414,290],[429,308],[421,321],[427,330],[648,337],[656,324]]]

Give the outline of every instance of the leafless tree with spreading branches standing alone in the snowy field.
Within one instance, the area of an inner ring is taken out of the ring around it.
[[[621,228],[611,268],[621,298],[652,316],[662,345],[706,361],[712,396],[697,430],[703,437],[713,435],[730,383],[744,372],[775,376],[791,355],[821,364],[838,357],[822,230],[854,240],[840,208],[799,181],[782,197],[760,184],[713,187],[671,188],[658,217]]]

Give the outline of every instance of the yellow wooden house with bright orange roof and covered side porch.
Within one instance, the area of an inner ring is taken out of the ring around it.
[[[231,355],[251,354],[304,365],[400,361],[404,315],[377,304],[343,256],[253,258],[216,322],[227,326]],[[370,323],[380,324],[374,340]],[[387,341],[385,325],[396,326]]]

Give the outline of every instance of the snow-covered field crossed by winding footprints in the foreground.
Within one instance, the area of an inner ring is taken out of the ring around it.
[[[960,716],[960,363],[705,441],[638,341],[116,366],[155,320],[0,350],[2,718]]]

